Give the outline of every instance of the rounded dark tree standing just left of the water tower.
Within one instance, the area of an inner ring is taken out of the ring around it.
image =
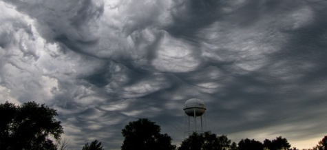
[[[129,122],[122,130],[125,140],[121,149],[176,149],[176,146],[171,144],[171,137],[161,134],[160,130],[160,126],[156,125],[156,122],[151,122],[146,118]]]

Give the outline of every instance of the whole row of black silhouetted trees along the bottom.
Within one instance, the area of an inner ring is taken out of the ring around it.
[[[35,102],[14,105],[0,104],[0,149],[1,150],[65,150],[69,148],[68,140],[61,139],[63,127],[54,117],[58,116],[55,109]],[[231,142],[226,135],[218,136],[211,131],[192,133],[184,139],[179,147],[171,144],[172,138],[167,133],[160,133],[161,129],[156,122],[140,118],[129,122],[122,129],[125,138],[123,150],[296,150],[291,144],[279,136],[273,140],[260,142],[254,139],[242,139],[240,142]],[[50,138],[51,137],[51,138]],[[51,140],[52,139],[52,140]],[[86,143],[82,150],[104,150],[100,141]],[[327,150],[327,136],[312,149]]]

